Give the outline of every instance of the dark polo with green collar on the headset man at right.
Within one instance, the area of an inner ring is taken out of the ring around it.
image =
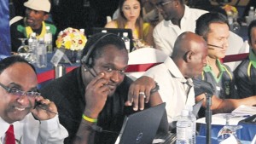
[[[204,67],[201,76],[194,78],[193,81],[196,84],[200,84],[200,81],[207,81],[212,84],[213,95],[216,95],[221,99],[236,99],[239,98],[237,95],[235,79],[233,78],[233,72],[229,66],[226,66],[217,60],[218,69],[220,73],[218,78],[213,74],[212,67],[207,65]],[[203,94],[203,89],[195,87],[195,96]]]

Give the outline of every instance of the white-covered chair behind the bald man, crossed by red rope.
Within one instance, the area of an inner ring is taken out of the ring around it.
[[[167,56],[164,52],[154,48],[143,48],[132,51],[129,54],[129,66],[125,73],[131,79],[136,80],[150,67],[164,62]]]

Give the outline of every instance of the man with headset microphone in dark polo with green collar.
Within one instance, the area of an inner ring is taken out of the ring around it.
[[[203,81],[212,84],[212,112],[231,112],[236,107],[241,105],[253,106],[256,104],[256,96],[240,98],[237,95],[236,84],[232,71],[229,66],[225,66],[219,59],[224,58],[225,51],[228,49],[230,36],[229,25],[226,17],[219,13],[202,14],[196,20],[195,32],[204,37],[207,41],[208,55],[207,66],[204,67],[201,77],[194,78],[195,84],[195,101],[200,101],[204,98],[202,104],[206,107],[206,90],[202,86],[196,86]],[[200,114],[204,116],[204,111]]]

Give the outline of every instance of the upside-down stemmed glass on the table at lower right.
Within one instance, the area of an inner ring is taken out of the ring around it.
[[[237,144],[241,144],[241,141],[238,139],[236,135],[236,130],[240,130],[242,128],[241,125],[230,125],[230,118],[234,117],[235,114],[225,113],[224,118],[226,120],[226,124],[224,127],[218,132],[218,141],[224,141],[229,138],[230,135],[234,135],[236,137]]]

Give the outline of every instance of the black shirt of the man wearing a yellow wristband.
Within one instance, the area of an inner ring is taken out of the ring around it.
[[[108,97],[105,106],[98,116],[97,125],[102,130],[112,132],[96,133],[95,144],[113,144],[119,135],[125,115],[131,114],[132,107],[125,107],[128,90],[132,80],[125,76],[124,81],[117,87],[114,95]],[[69,136],[66,144],[73,141],[84,113],[85,86],[82,80],[81,67],[57,78],[41,89],[42,95],[54,101],[58,108],[61,124],[67,129]],[[114,133],[113,133],[114,132]]]

